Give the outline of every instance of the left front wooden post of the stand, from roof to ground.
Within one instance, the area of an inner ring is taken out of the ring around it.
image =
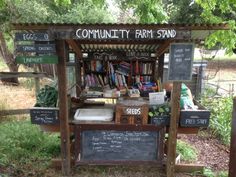
[[[61,136],[61,158],[62,173],[70,174],[70,129],[68,122],[68,103],[67,103],[67,77],[66,77],[66,43],[63,40],[56,41],[56,50],[58,55],[58,93],[59,93],[59,118],[60,118],[60,136]]]

